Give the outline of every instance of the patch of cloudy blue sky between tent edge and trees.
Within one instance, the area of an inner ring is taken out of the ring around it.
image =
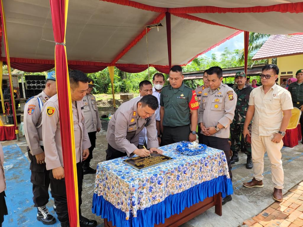
[[[230,51],[234,51],[236,49],[243,49],[244,48],[244,32],[240,33],[239,35],[231,38],[230,40],[222,43],[218,47],[215,47],[211,51],[208,51],[206,54],[202,54],[201,56],[211,57],[211,54],[215,53],[217,59],[220,58],[221,53],[224,51],[225,47],[228,47]]]

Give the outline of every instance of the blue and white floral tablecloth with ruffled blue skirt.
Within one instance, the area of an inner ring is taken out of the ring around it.
[[[184,142],[162,146],[173,160],[142,171],[125,164],[128,157],[98,163],[92,212],[116,227],[154,226],[206,197],[232,194],[224,152],[187,156],[176,150]]]

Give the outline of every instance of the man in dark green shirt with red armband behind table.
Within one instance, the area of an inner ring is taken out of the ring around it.
[[[197,139],[198,98],[196,92],[183,83],[183,79],[181,66],[171,67],[169,71],[170,85],[163,87],[161,91],[162,146],[183,140],[193,142]],[[190,113],[191,122],[189,120]]]

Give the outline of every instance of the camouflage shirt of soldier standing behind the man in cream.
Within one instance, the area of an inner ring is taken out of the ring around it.
[[[235,117],[233,120],[234,124],[244,124],[245,117],[248,109],[248,101],[249,95],[252,91],[251,86],[244,85],[244,87],[240,90],[237,85],[232,87],[237,94],[237,105],[235,109]]]

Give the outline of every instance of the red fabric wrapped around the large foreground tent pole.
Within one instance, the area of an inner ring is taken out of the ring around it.
[[[52,25],[55,42],[55,71],[59,102],[59,120],[61,128],[61,141],[65,174],[65,186],[68,206],[69,223],[71,227],[78,225],[75,184],[72,159],[72,135],[70,127],[69,106],[71,100],[68,97],[69,78],[65,53],[65,0],[50,0],[52,12]]]

